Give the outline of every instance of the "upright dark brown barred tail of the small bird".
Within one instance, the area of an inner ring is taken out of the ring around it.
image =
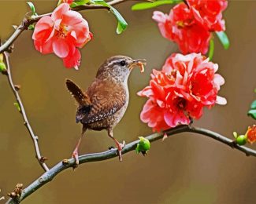
[[[80,87],[77,86],[74,82],[72,82],[72,80],[66,79],[66,86],[69,90],[69,93],[71,93],[72,97],[76,99],[80,106],[91,106],[90,98],[86,93],[83,93],[83,90],[80,89]]]

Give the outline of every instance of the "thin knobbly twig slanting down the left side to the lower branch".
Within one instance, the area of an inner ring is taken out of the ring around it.
[[[46,166],[46,163],[44,162],[45,157],[43,157],[40,154],[39,143],[38,143],[39,138],[35,135],[35,133],[33,132],[32,126],[28,122],[28,118],[27,118],[26,112],[24,110],[24,106],[20,99],[20,95],[19,95],[17,89],[15,88],[15,85],[13,84],[13,78],[12,78],[11,69],[9,66],[9,53],[4,52],[4,55],[5,55],[5,59],[6,59],[7,77],[8,77],[9,86],[12,88],[13,94],[16,97],[17,103],[20,106],[20,114],[22,115],[22,117],[24,119],[24,126],[26,126],[26,128],[28,129],[28,133],[30,134],[30,136],[32,137],[32,140],[34,142],[36,158],[38,159],[39,164],[43,167],[43,169],[45,171],[48,171],[49,168]]]

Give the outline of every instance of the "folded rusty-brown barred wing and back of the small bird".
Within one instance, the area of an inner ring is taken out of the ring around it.
[[[81,122],[83,124],[97,122],[113,115],[126,102],[124,87],[109,81],[96,79],[87,90],[91,98],[91,111]]]

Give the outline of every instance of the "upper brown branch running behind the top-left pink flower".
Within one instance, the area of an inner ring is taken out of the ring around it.
[[[127,2],[129,0],[113,0],[111,2],[108,2],[109,5],[117,5],[122,2]],[[104,5],[79,5],[76,6],[73,10],[76,11],[82,11],[82,10],[88,10],[88,9],[109,9],[109,7],[106,7]],[[20,34],[28,29],[28,26],[31,24],[34,24],[35,22],[39,21],[43,16],[50,16],[52,13],[45,13],[39,16],[25,16],[22,20],[21,24],[17,27],[16,31],[13,32],[13,35],[9,37],[9,39],[0,47],[0,53],[3,53],[4,51],[8,50],[10,46],[13,45],[13,42],[20,36]]]

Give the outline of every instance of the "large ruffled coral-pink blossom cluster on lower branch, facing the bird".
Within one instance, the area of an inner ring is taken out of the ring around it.
[[[201,54],[173,54],[161,71],[153,70],[150,86],[138,93],[147,97],[140,118],[153,130],[189,124],[190,118],[201,118],[203,107],[226,104],[217,93],[224,78],[216,74],[213,64]]]

